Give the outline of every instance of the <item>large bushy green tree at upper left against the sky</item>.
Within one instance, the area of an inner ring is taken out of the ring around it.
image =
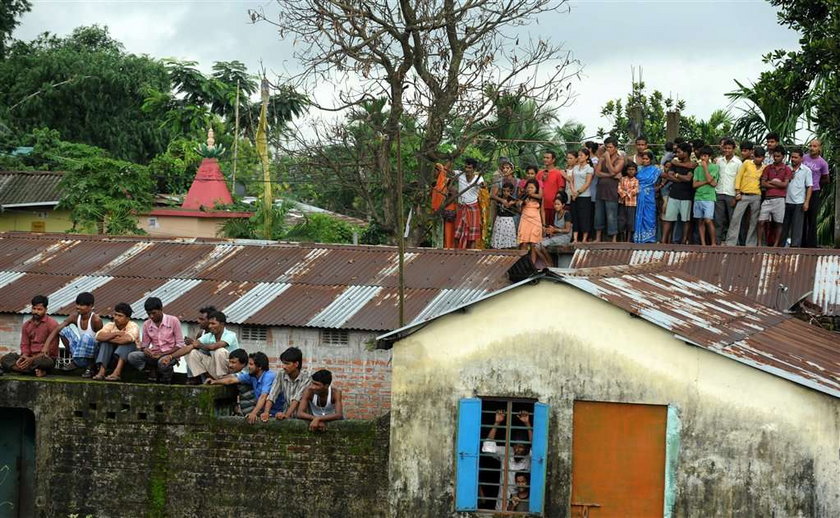
[[[49,127],[113,157],[145,163],[169,134],[140,106],[149,89],[167,90],[163,65],[126,53],[108,30],[79,27],[61,38],[45,33],[15,42],[0,61],[0,113],[19,134]]]

